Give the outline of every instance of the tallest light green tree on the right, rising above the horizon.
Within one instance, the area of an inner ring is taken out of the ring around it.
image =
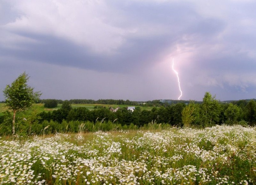
[[[208,126],[219,122],[220,104],[212,97],[210,92],[205,92],[202,104],[202,126]]]

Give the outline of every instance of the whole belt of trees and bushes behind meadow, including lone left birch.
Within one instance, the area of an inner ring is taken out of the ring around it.
[[[23,73],[4,90],[6,106],[12,113],[6,111],[0,117],[1,135],[15,134],[15,131],[22,134],[40,134],[46,129],[48,133],[56,133],[78,132],[81,129],[95,131],[140,128],[157,124],[193,128],[220,124],[256,124],[255,100],[222,103],[212,97],[210,92],[205,93],[202,102],[161,102],[159,107],[155,106],[152,110],[141,110],[140,107],[136,107],[134,111],[120,108],[113,112],[102,107],[90,111],[85,107],[73,109],[70,101],[62,101],[61,108],[52,112],[26,114],[24,110],[31,107],[41,95],[40,92],[33,92],[33,88],[26,84],[27,80],[27,74]],[[152,103],[157,104],[157,101]],[[16,113],[19,113],[17,117]]]

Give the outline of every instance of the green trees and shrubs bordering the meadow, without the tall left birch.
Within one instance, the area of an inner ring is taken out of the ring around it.
[[[156,101],[157,102],[157,101]],[[45,109],[43,104],[35,104],[29,111],[17,114],[16,133],[19,135],[42,134],[49,125],[46,133],[78,132],[79,125],[84,131],[115,130],[128,128],[157,128],[175,125],[177,127],[204,128],[213,125],[254,125],[256,123],[256,102],[237,101],[238,104],[221,103],[206,92],[203,103],[190,101],[188,105],[177,103],[160,107],[137,106],[132,112],[126,105],[118,106],[114,111],[112,105],[97,105],[88,109],[87,105],[72,105],[70,101],[62,101],[60,109]],[[241,105],[241,107],[240,107]],[[39,109],[39,107],[42,107]],[[113,106],[116,107],[116,106]],[[4,111],[4,109],[2,109]],[[43,111],[43,112],[41,112]],[[0,116],[0,135],[10,134],[10,119]],[[11,114],[9,113],[9,116]],[[25,120],[24,120],[25,119]]]

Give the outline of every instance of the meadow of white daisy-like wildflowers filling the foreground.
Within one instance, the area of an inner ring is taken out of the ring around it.
[[[0,138],[0,184],[255,184],[256,128]]]

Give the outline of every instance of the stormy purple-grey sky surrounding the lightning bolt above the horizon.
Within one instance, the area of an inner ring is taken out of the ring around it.
[[[0,101],[256,98],[254,0],[0,0]]]

